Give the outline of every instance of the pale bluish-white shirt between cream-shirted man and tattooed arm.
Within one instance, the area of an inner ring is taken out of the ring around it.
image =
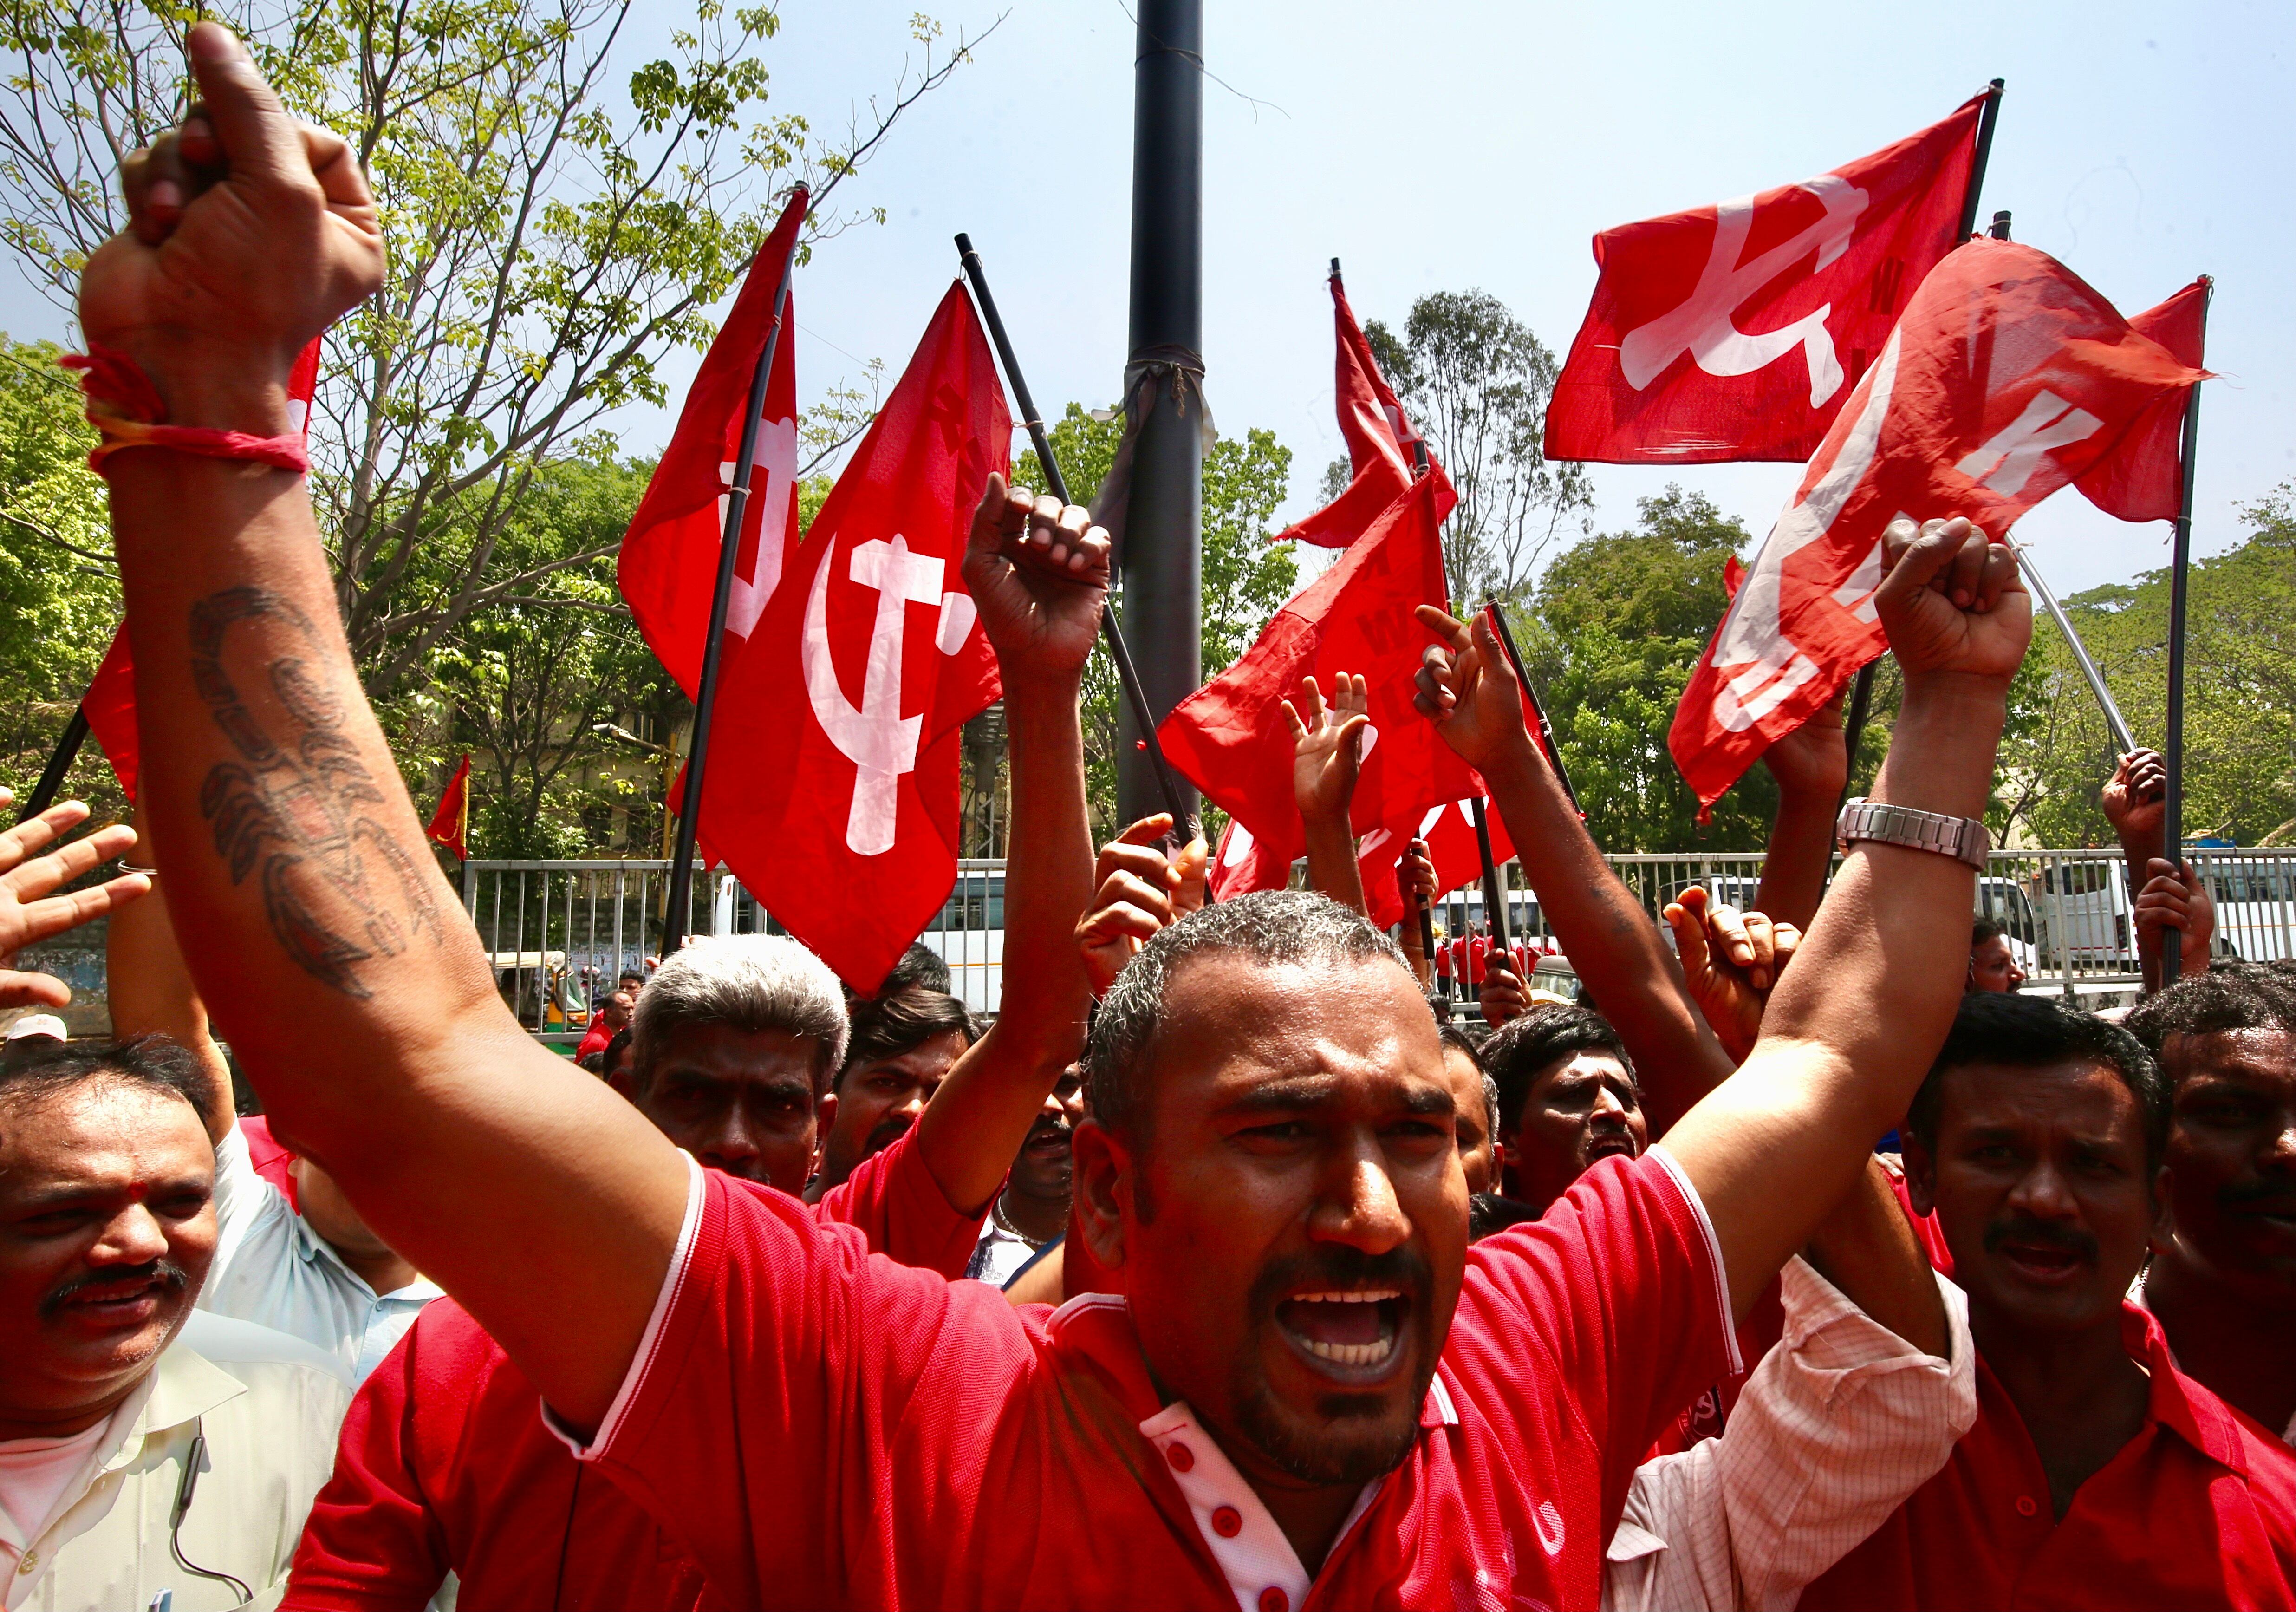
[[[439,1284],[425,1277],[377,1293],[294,1212],[287,1194],[255,1173],[236,1125],[216,1148],[216,1261],[200,1309],[303,1339],[340,1359],[358,1385],[439,1295]]]

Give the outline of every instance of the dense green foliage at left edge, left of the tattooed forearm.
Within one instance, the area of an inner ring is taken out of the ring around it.
[[[23,799],[119,625],[119,579],[96,434],[53,342],[0,335],[0,783]],[[119,815],[94,742],[67,795]]]

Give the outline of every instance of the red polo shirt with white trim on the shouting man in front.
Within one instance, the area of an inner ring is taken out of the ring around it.
[[[1125,1300],[1015,1309],[698,1173],[588,1456],[744,1607],[1591,1607],[1635,1463],[1736,1364],[1727,1304],[1665,1150],[1474,1245],[1419,1437],[1309,1582]]]

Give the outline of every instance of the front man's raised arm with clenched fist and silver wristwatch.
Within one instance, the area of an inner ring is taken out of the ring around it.
[[[1968,521],[1906,519],[1876,592],[1906,700],[1874,799],[1984,817],[2032,602],[2007,544]],[[1899,1123],[1954,1010],[1977,870],[1860,840],[1825,893],[1738,1072],[1667,1134],[1722,1245],[1743,1313]]]

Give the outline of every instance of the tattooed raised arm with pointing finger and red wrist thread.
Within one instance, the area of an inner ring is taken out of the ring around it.
[[[227,30],[200,23],[191,55],[227,163],[188,197],[181,177],[154,197],[163,154],[131,165],[135,220],[90,259],[80,324],[174,425],[280,436],[294,356],[381,282],[381,230],[349,147],[296,126]],[[106,473],[140,790],[200,997],[280,1139],[595,1426],[687,1160],[496,997],[367,710],[303,480],[156,448]]]

